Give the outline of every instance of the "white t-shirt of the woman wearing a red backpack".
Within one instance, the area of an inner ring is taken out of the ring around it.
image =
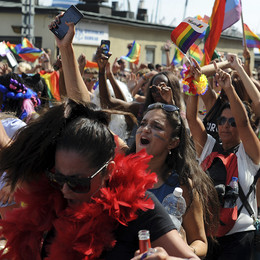
[[[212,152],[212,149],[215,145],[216,140],[208,135],[207,142],[203,148],[201,156],[199,158],[199,164],[203,162],[203,160]],[[245,152],[245,148],[243,143],[240,143],[238,151],[236,152],[237,156],[237,165],[238,165],[238,181],[240,186],[243,189],[244,194],[246,195],[249,191],[250,185],[254,181],[254,176],[256,175],[258,169],[260,168],[260,164],[256,165],[252,162],[249,156]],[[256,196],[254,192],[251,192],[248,202],[254,211],[255,217],[257,217],[257,202]],[[238,209],[242,205],[240,198],[237,199]],[[226,234],[231,235],[237,232],[255,230],[253,225],[253,219],[249,216],[249,213],[245,207],[242,208],[238,219],[233,226],[233,228]]]

